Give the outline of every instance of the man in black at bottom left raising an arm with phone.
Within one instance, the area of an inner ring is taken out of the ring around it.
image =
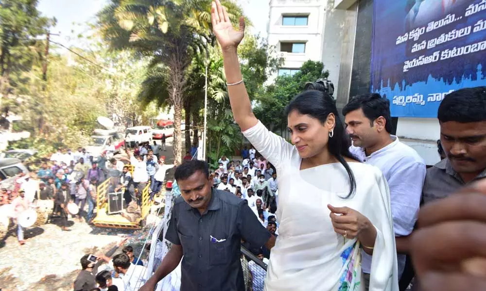
[[[98,267],[101,266],[104,261],[108,262],[115,251],[127,240],[128,238],[121,240],[117,245],[107,251],[106,254],[98,256],[98,261],[96,263],[88,260],[89,255],[84,255],[81,258],[81,267],[83,270],[79,272],[76,280],[74,280],[74,291],[90,291],[91,289],[96,288],[96,274],[98,273]]]

